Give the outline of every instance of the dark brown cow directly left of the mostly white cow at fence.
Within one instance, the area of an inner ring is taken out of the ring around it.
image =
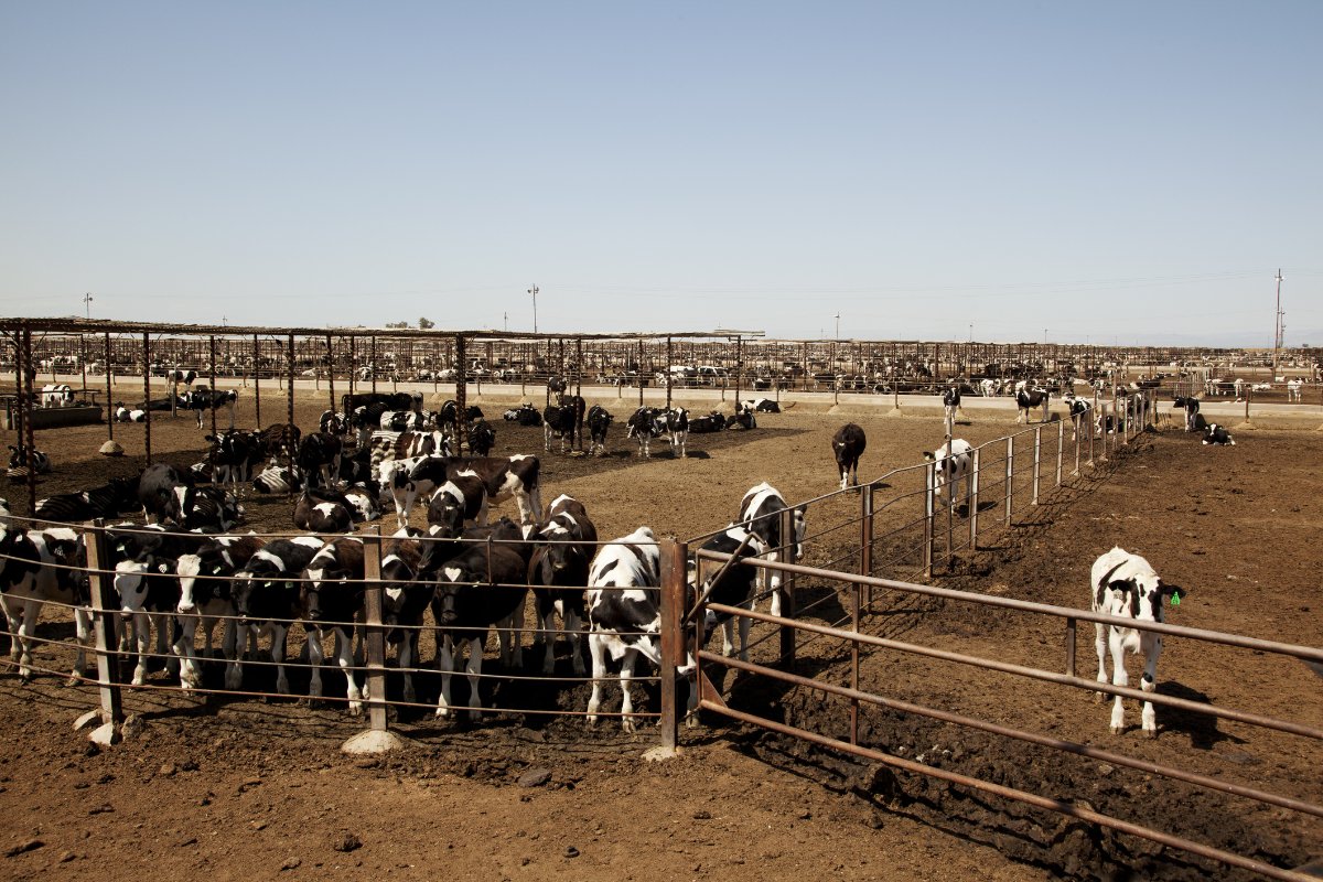
[[[546,510],[546,521],[533,533],[537,542],[528,565],[527,582],[533,586],[538,633],[542,640],[542,673],[556,670],[556,621],[558,612],[570,643],[574,673],[583,676],[579,632],[585,621],[583,588],[597,551],[597,526],[583,504],[572,496],[557,496]]]

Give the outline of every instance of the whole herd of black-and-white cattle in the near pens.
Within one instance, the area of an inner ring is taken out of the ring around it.
[[[1017,391],[1021,418],[1041,409],[1046,418],[1048,390],[1028,385]],[[949,421],[959,409],[959,389],[943,397]],[[1089,413],[1082,398],[1066,397],[1078,431]],[[554,673],[554,616],[560,615],[569,643],[570,665],[585,672],[579,635],[587,636],[593,668],[589,719],[595,721],[607,677],[606,659],[620,670],[622,718],[634,729],[630,681],[639,656],[660,660],[660,551],[647,526],[599,542],[586,506],[569,496],[557,496],[545,509],[541,502],[540,463],[536,456],[488,456],[493,430],[478,409],[460,413],[446,402],[438,414],[427,414],[418,398],[398,395],[345,395],[344,410],[325,411],[319,431],[303,435],[294,424],[277,424],[262,432],[228,431],[208,435],[206,460],[192,469],[155,464],[136,479],[114,479],[79,493],[41,500],[36,521],[77,524],[93,518],[114,520],[142,513],[146,525],[108,528],[101,561],[111,608],[120,616],[119,641],[136,653],[132,682],[143,684],[152,657],[151,636],[156,627],[157,657],[169,661],[184,689],[202,685],[202,659],[196,648],[201,625],[206,653],[214,651],[214,632],[221,625],[220,655],[224,682],[241,689],[245,659],[258,656],[259,640],[275,666],[275,689],[288,693],[284,672],[287,633],[299,624],[307,633],[311,662],[308,694],[320,697],[324,645],[345,676],[349,711],[361,713],[366,686],[355,661],[355,636],[361,631],[365,603],[365,545],[351,536],[357,524],[380,517],[382,500],[394,504],[398,532],[385,540],[380,558],[382,616],[389,641],[397,647],[404,681],[404,700],[415,701],[411,673],[417,669],[419,635],[431,629],[437,637],[437,669],[441,692],[435,713],[452,713],[450,680],[458,670],[462,651],[468,649],[467,673],[472,718],[482,714],[479,678],[483,645],[496,629],[505,665],[523,664],[524,608],[532,594],[536,615],[534,643],[541,644],[541,668]],[[1078,407],[1078,405],[1084,405]],[[648,456],[648,440],[665,436],[676,458],[685,456],[688,432],[717,431],[736,426],[753,428],[754,414],[773,410],[766,399],[741,402],[733,418],[713,411],[691,418],[684,409],[640,407],[626,421],[640,455]],[[1233,444],[1225,428],[1201,424],[1199,402],[1177,399],[1187,414],[1187,428],[1204,428],[1204,443]],[[556,405],[538,411],[532,405],[512,409],[505,419],[544,427],[545,448],[558,439],[587,452],[605,451],[613,417],[602,407],[586,409],[582,398],[562,394]],[[467,456],[459,455],[460,430],[467,426]],[[1105,427],[1099,426],[1099,430]],[[841,489],[859,483],[859,460],[867,447],[864,430],[841,426],[832,439],[832,452]],[[19,451],[11,448],[16,455]],[[946,505],[970,500],[972,446],[958,438],[925,452],[934,464],[933,491]],[[258,473],[257,467],[266,463]],[[229,534],[243,516],[238,499],[258,493],[298,492],[294,522],[308,536],[271,538]],[[519,521],[492,521],[492,504],[513,499]],[[413,506],[427,501],[427,529],[409,524]],[[790,533],[783,530],[789,524]],[[736,520],[701,549],[742,558],[794,562],[803,554],[806,509],[787,505],[770,484],[747,491]],[[750,566],[704,567],[688,562],[687,608],[696,598],[710,603],[751,608],[763,596],[773,615],[781,612],[781,577],[777,570]],[[1143,558],[1113,549],[1098,558],[1090,586],[1091,608],[1121,618],[1162,621],[1163,599],[1177,603],[1180,588],[1163,586]],[[83,534],[70,526],[24,528],[0,508],[0,603],[13,636],[11,657],[20,677],[33,676],[33,631],[45,603],[66,604],[74,611],[82,674],[90,645],[90,582]],[[425,624],[427,611],[431,624]],[[722,627],[724,652],[734,648],[734,623],[710,612],[705,632]],[[689,628],[695,623],[688,623]],[[749,620],[740,619],[740,655],[747,657]],[[692,645],[692,641],[688,644]],[[245,653],[245,647],[247,652]],[[1160,640],[1148,632],[1119,625],[1098,625],[1098,680],[1106,682],[1105,655],[1113,656],[1111,682],[1125,686],[1125,655],[1143,652],[1143,688],[1152,688]],[[361,649],[361,647],[360,647]],[[692,656],[681,673],[692,673]],[[691,696],[693,696],[691,690]],[[1122,725],[1117,700],[1113,730]],[[1154,734],[1154,711],[1144,705],[1143,730]]]

